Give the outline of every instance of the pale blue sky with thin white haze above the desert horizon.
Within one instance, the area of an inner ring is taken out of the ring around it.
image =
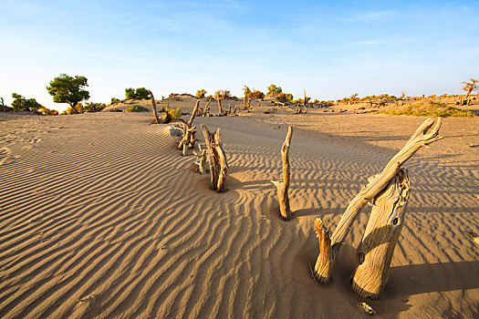
[[[60,73],[90,100],[272,83],[295,98],[462,93],[479,77],[474,1],[0,0],[0,97],[48,95]]]

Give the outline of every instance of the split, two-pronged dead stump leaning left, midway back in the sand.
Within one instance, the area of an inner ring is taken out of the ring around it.
[[[210,164],[211,188],[212,190],[224,191],[224,181],[228,175],[228,163],[220,138],[220,129],[210,133],[208,128],[202,124],[204,141],[206,143],[207,159]]]

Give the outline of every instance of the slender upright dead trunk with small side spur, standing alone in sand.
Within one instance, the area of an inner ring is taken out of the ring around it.
[[[289,196],[287,190],[289,190],[289,182],[291,180],[291,167],[289,165],[289,145],[291,144],[291,137],[293,136],[293,128],[287,128],[287,134],[283,147],[281,148],[281,159],[283,160],[283,180],[271,180],[276,186],[277,196],[279,199],[279,211],[281,217],[285,221],[289,221],[291,218],[291,209],[289,208]]]

